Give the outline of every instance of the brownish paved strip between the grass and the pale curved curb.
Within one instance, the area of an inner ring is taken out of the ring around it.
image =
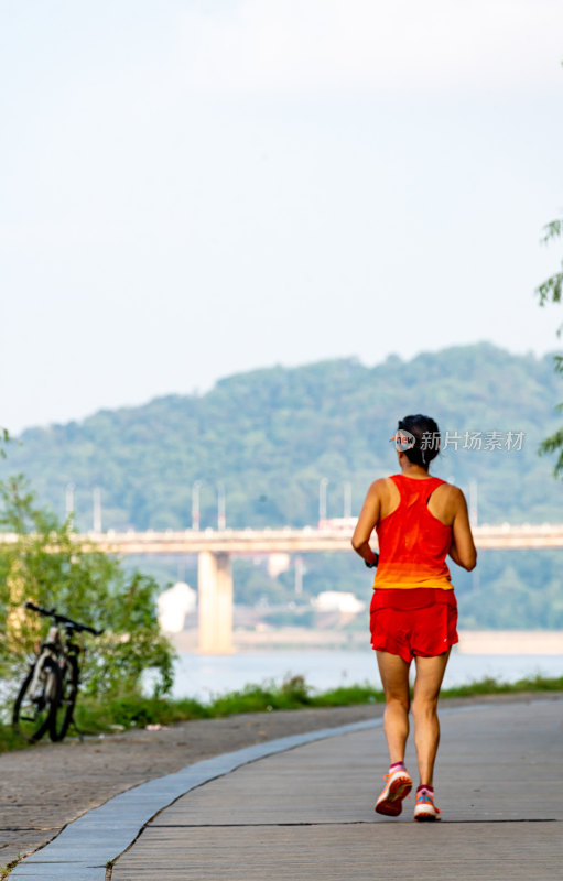
[[[82,743],[76,738],[50,743],[45,738],[33,748],[4,752],[0,867],[45,847],[86,812],[150,780],[225,752],[381,714],[381,704],[246,713],[192,719],[160,731],[134,728]]]

